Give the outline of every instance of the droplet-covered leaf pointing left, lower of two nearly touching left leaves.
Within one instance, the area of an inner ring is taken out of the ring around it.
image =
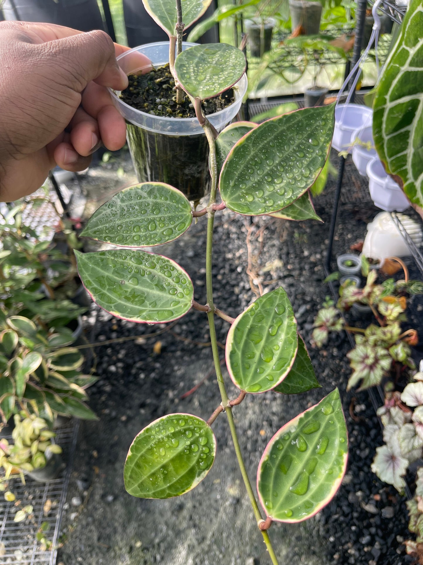
[[[191,279],[171,259],[127,249],[75,254],[82,284],[94,302],[113,316],[163,323],[191,308]]]

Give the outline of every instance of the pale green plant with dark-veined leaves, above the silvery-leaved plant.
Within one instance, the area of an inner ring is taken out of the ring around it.
[[[354,334],[355,348],[347,353],[352,374],[348,388],[361,381],[360,390],[381,383],[382,378],[396,368],[400,373],[415,368],[411,358],[411,346],[417,344],[415,329],[403,331],[406,321],[407,297],[423,293],[419,281],[397,281],[387,279],[376,284],[377,271],[368,273],[366,284],[359,288],[355,281],[347,280],[340,287],[337,307],[327,299],[314,320],[313,339],[318,347],[323,346],[329,332],[347,330]],[[353,305],[367,306],[373,312],[374,322],[367,328],[346,325],[341,312]]]

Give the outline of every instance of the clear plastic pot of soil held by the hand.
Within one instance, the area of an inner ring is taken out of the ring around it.
[[[196,44],[184,42],[182,47],[185,50],[193,45]],[[139,54],[146,55],[154,67],[161,67],[169,62],[169,42],[141,45],[118,56],[127,75],[142,71]],[[243,75],[233,87],[235,102],[207,116],[218,131],[235,118],[246,89],[247,79]],[[127,141],[139,182],[167,182],[190,200],[204,196],[210,186],[209,145],[197,118],[153,116],[122,102],[119,92],[111,94],[126,120]]]

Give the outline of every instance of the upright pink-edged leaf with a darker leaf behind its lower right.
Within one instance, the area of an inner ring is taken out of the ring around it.
[[[238,388],[262,393],[288,375],[297,347],[297,322],[280,287],[257,298],[235,319],[226,340],[226,366]]]

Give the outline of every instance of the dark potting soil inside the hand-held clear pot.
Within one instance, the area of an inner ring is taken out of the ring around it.
[[[195,110],[187,95],[182,104],[176,102],[175,81],[169,64],[158,67],[145,75],[129,75],[129,85],[121,92],[121,99],[129,106],[155,116],[170,118],[195,118]],[[202,102],[204,114],[224,110],[233,102],[233,90]]]

